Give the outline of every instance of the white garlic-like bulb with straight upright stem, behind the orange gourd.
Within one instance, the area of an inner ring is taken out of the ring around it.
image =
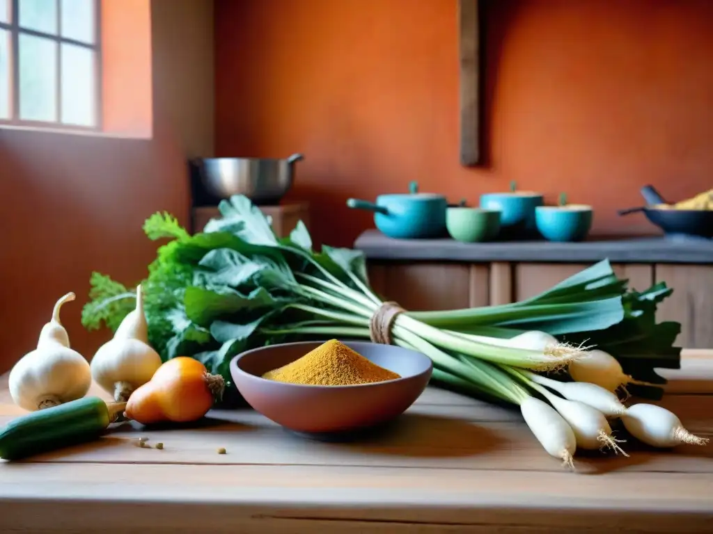
[[[136,308],[126,315],[112,340],[104,343],[91,360],[93,379],[117,402],[126,402],[161,366],[158,352],[148,344],[148,325],[143,311],[143,292],[136,288]]]

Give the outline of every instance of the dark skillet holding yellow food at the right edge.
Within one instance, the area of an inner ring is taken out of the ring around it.
[[[667,236],[696,236],[713,239],[713,211],[695,209],[659,209],[655,204],[667,204],[651,185],[641,188],[647,206],[623,209],[620,215],[643,211],[646,218],[664,231]]]

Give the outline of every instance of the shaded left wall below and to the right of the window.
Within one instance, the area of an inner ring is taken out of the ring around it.
[[[91,357],[108,337],[80,324],[91,271],[134,283],[155,257],[145,218],[165,210],[188,223],[185,157],[212,153],[212,2],[152,0],[150,9],[153,138],[0,128],[0,373],[34,348],[70,290],[77,301],[63,324]]]

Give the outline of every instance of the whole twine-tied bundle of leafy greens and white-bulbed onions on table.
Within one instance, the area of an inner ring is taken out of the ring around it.
[[[219,208],[199,234],[168,214],[144,225],[150,239],[170,239],[142,282],[150,342],[163,359],[192,356],[230,382],[230,359],[250,347],[373,337],[374,317],[388,305],[369,287],[359,251],[314,251],[302,223],[279,239],[242,196]],[[116,329],[135,293],[99,273],[91,283],[83,324]],[[431,357],[434,382],[520,406],[545,449],[570,462],[575,446],[620,450],[606,419],[625,413],[617,389],[658,398],[665,379],[654,368],[679,367],[680,325],[655,321],[670,293],[665,283],[629,290],[601,261],[517,303],[398,313],[386,335]],[[543,375],[557,370],[569,376]],[[545,427],[559,428],[559,438],[543,435]]]

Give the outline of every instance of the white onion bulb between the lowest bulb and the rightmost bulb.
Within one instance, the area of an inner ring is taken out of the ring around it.
[[[609,447],[615,453],[620,452],[624,456],[629,456],[618,445],[625,440],[616,439],[612,436],[612,428],[602,412],[582,402],[558,397],[548,392],[544,387],[538,386],[536,389],[543,394],[545,399],[548,399],[563,419],[568,422],[575,433],[578,447],[589,450]]]

